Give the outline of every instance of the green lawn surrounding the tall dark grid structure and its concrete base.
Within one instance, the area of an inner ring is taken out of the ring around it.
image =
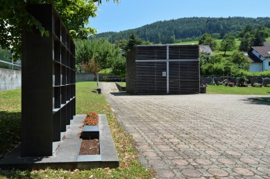
[[[119,154],[117,169],[92,169],[65,171],[45,169],[39,171],[0,170],[0,178],[153,178],[153,171],[140,164],[133,139],[119,126],[110,105],[103,95],[93,93],[96,82],[76,83],[76,113],[96,111],[106,114]],[[0,157],[19,144],[21,91],[0,92]]]

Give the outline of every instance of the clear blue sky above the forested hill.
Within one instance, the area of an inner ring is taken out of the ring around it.
[[[88,26],[119,32],[181,17],[270,17],[270,0],[103,0],[97,13]]]

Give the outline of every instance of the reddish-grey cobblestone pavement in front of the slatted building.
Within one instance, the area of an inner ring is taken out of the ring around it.
[[[247,95],[108,93],[156,178],[270,178],[270,105]],[[114,92],[112,91],[112,92]]]

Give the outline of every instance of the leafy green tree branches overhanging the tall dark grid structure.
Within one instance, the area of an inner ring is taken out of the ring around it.
[[[106,0],[108,1],[108,0]],[[118,0],[114,0],[118,1]],[[94,34],[94,28],[87,27],[89,17],[96,16],[96,3],[101,0],[4,0],[0,3],[0,46],[8,49],[15,57],[21,55],[22,29],[40,30],[42,35],[49,35],[48,29],[31,16],[26,6],[28,4],[51,3],[56,8],[60,18],[74,38],[87,38]]]

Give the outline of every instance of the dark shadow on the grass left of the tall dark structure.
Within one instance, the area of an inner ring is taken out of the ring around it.
[[[21,112],[0,111],[0,159],[21,141]]]

